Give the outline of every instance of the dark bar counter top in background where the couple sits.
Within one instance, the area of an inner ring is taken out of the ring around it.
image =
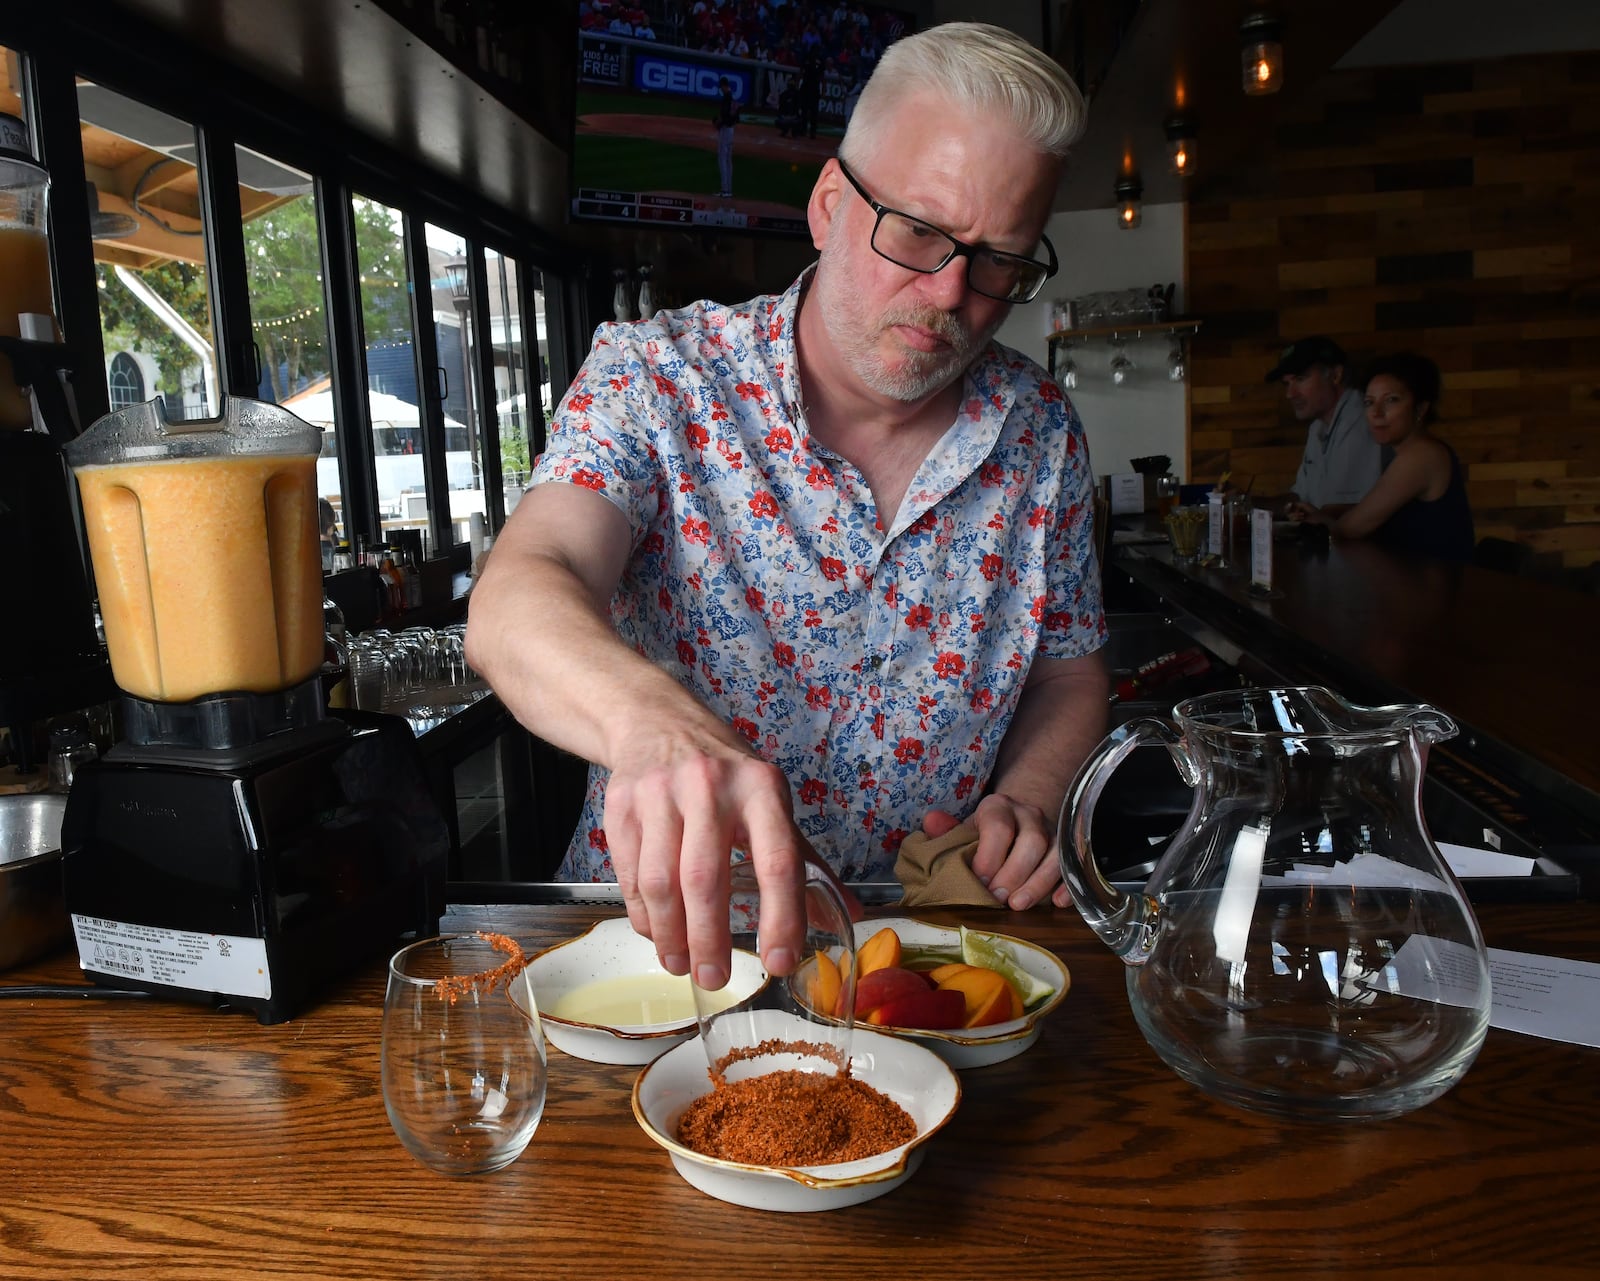
[[[1270,593],[1251,590],[1248,560],[1179,563],[1165,544],[1117,547],[1110,566],[1280,680],[1448,712],[1462,734],[1446,755],[1600,822],[1600,597],[1309,531],[1275,544]]]

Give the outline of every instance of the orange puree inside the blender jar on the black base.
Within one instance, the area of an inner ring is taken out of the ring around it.
[[[77,478],[125,692],[264,692],[322,665],[315,457],[123,462]]]

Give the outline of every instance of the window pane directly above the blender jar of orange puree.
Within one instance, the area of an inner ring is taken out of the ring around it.
[[[194,125],[86,80],[78,115],[106,350],[149,361],[147,390],[168,417],[213,417],[218,365]]]

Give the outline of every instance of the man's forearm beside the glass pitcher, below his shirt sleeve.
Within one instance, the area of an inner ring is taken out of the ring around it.
[[[990,792],[1037,806],[1054,830],[1074,774],[1106,734],[1110,684],[1098,652],[1043,662],[1018,700]]]

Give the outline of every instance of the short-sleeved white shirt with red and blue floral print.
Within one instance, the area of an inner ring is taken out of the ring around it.
[[[885,529],[806,432],[779,296],[602,325],[533,483],[603,494],[634,550],[611,621],[794,792],[845,880],[893,880],[928,809],[982,795],[1035,657],[1104,644],[1083,427],[990,342]],[[562,880],[614,880],[592,768]]]

